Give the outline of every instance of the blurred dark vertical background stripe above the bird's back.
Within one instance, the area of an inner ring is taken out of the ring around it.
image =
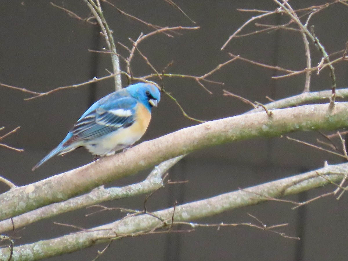
[[[93,36],[92,36],[92,50],[98,50],[99,49],[99,42],[100,42],[100,26],[95,25],[93,29]],[[89,79],[93,79],[93,77],[96,77],[97,70],[98,70],[98,59],[99,56],[97,53],[91,53],[91,59],[90,59],[90,70],[89,70]],[[97,83],[92,82],[89,85],[89,95],[88,95],[88,107],[92,105],[96,101],[96,95],[97,95]]]

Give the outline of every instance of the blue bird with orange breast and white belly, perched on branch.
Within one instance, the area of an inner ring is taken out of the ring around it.
[[[112,155],[130,147],[144,135],[151,108],[160,100],[153,84],[137,83],[110,93],[95,102],[72,127],[65,139],[33,170],[55,155],[85,147],[98,156]]]

